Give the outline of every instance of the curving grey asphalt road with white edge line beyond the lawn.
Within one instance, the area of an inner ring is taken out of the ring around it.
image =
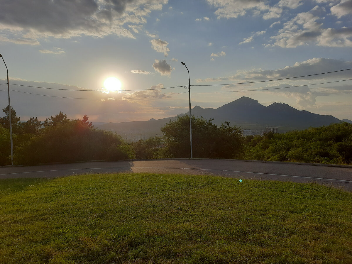
[[[224,159],[152,159],[0,167],[0,179],[52,178],[74,174],[111,172],[206,174],[241,179],[316,182],[352,191],[352,166]]]

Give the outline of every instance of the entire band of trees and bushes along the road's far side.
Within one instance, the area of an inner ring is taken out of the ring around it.
[[[0,166],[11,164],[8,107],[0,118]],[[189,116],[178,116],[161,128],[164,136],[127,144],[113,132],[97,130],[87,115],[70,120],[63,112],[21,122],[11,108],[14,163],[119,159],[189,158]],[[341,122],[285,134],[264,133],[243,138],[239,127],[192,116],[193,158],[251,159],[352,164],[352,124]]]

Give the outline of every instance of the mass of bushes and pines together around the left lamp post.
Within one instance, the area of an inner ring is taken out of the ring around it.
[[[8,121],[8,115],[3,118],[5,124],[6,117]],[[60,112],[46,119],[44,127],[34,117],[21,123],[13,112],[11,119],[14,118],[18,120],[17,131],[13,133],[15,164],[117,161],[134,158],[131,146],[118,134],[94,129],[86,115],[82,120],[69,120]],[[10,131],[2,125],[0,151],[0,165],[10,165]]]

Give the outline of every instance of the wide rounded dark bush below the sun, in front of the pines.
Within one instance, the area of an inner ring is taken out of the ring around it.
[[[115,155],[112,155],[111,146],[115,146]],[[17,148],[15,161],[24,165],[69,163],[107,157],[125,159],[133,157],[131,153],[130,147],[119,135],[95,130],[74,120],[44,128],[41,134]]]

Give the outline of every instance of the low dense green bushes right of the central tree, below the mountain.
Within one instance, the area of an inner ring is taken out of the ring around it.
[[[352,124],[311,127],[285,134],[247,137],[245,158],[260,161],[352,163]]]

